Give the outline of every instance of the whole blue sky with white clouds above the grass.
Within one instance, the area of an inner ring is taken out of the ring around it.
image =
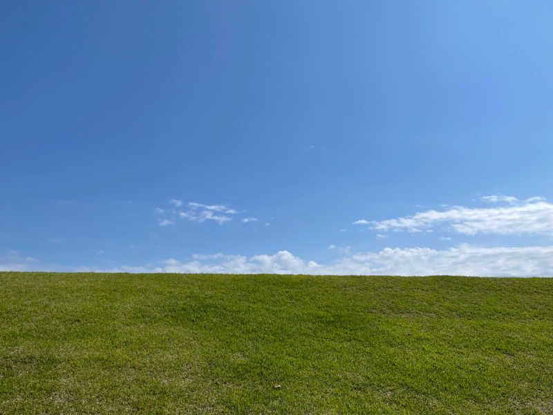
[[[0,11],[0,270],[553,276],[550,1]]]

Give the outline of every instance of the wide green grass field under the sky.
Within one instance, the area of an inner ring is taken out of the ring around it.
[[[0,414],[553,414],[553,279],[0,273]]]

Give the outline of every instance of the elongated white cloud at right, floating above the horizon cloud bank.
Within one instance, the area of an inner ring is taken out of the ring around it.
[[[371,228],[384,232],[389,230],[422,232],[440,224],[449,225],[454,231],[467,235],[478,233],[553,235],[553,204],[541,198],[531,198],[523,203],[501,208],[453,206],[441,212],[427,210],[413,216],[372,221]]]

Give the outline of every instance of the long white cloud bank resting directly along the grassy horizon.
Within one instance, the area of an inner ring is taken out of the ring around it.
[[[168,259],[156,268],[120,267],[112,272],[313,274],[313,275],[473,275],[480,277],[553,277],[553,246],[481,248],[460,245],[447,250],[384,248],[360,252],[332,264],[306,261],[282,250],[274,255],[193,255],[192,261]]]

